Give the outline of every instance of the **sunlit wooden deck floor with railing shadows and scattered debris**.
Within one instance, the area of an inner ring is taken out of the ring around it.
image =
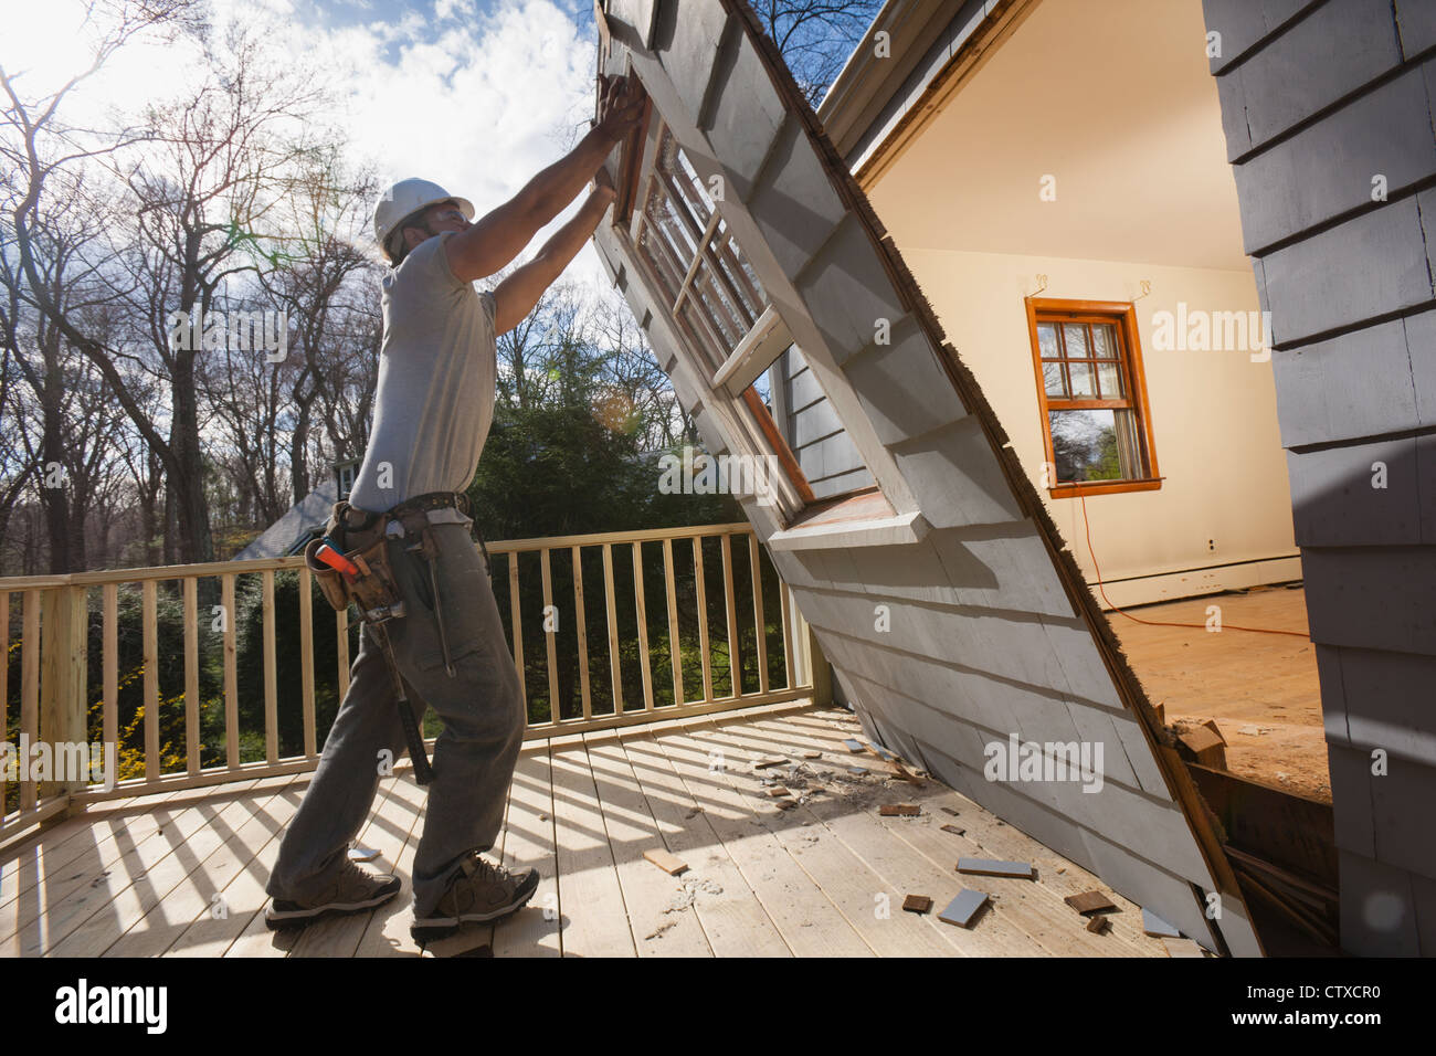
[[[1086,931],[1063,897],[1109,891],[1097,878],[936,782],[887,777],[844,737],[836,708],[770,705],[665,726],[567,734],[528,744],[510,793],[505,865],[543,875],[533,902],[497,925],[431,947],[497,957],[998,957],[1166,955],[1122,897],[1106,935]],[[821,751],[821,759],[803,759]],[[788,756],[800,770],[754,772]],[[870,769],[862,776],[849,767]],[[763,777],[794,797],[780,810]],[[359,843],[381,852],[405,891],[378,911],[292,935],[264,927],[264,882],[307,774],[191,789],[96,807],[0,862],[4,954],[34,957],[419,955],[409,938],[408,869],[424,790],[385,780]],[[804,795],[813,793],[813,795]],[[883,818],[883,803],[922,805]],[[952,818],[939,807],[958,812]],[[941,829],[955,825],[956,836]],[[643,859],[666,848],[689,869]],[[1037,881],[961,876],[961,855],[1031,861]],[[972,930],[936,912],[965,886],[994,895]],[[925,894],[933,912],[902,911]],[[1110,891],[1109,891],[1110,894]],[[886,912],[885,912],[886,909]]]

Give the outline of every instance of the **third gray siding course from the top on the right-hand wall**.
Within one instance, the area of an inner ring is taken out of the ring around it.
[[[1279,151],[1255,155],[1236,170],[1242,234],[1248,253],[1373,205],[1373,178],[1397,198],[1436,172],[1427,99],[1436,62],[1357,96],[1325,121],[1304,128]],[[1300,185],[1301,194],[1291,188]]]

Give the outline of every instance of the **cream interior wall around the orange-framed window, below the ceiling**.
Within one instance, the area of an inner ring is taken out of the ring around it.
[[[880,211],[880,188],[876,198]],[[1090,526],[1113,605],[1301,578],[1271,363],[1252,362],[1246,351],[1157,351],[1153,342],[1153,316],[1175,316],[1179,300],[1196,310],[1258,310],[1249,270],[926,249],[903,256],[1094,585]],[[1137,333],[1163,476],[1159,490],[1086,500],[1047,494],[1044,422],[1022,303],[1038,273],[1048,277],[1041,296],[1073,300],[1132,300],[1140,295],[1139,280],[1152,282],[1152,293],[1137,302]]]

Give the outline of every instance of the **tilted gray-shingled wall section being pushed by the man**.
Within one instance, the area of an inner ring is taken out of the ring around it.
[[[895,520],[912,529],[834,545],[744,501],[869,736],[1203,945],[1259,954],[1190,776],[1081,595],[1001,424],[751,11],[609,0],[606,14],[605,72],[632,63],[699,178],[722,177],[728,230]],[[609,223],[595,233],[659,365],[711,451],[748,453],[732,401],[685,346],[628,237]],[[887,341],[876,319],[890,320]],[[1100,744],[1101,790],[989,777],[987,749],[1010,737],[1047,753]],[[1221,895],[1219,917],[1208,915],[1209,894]]]

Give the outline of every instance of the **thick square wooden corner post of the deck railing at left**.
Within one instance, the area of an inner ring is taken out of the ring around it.
[[[83,586],[57,586],[40,599],[40,740],[50,746],[52,773],[62,776],[60,744],[89,743],[86,701],[88,641]],[[89,759],[88,750],[82,756]],[[40,796],[67,795],[89,784],[89,774],[40,784]]]

